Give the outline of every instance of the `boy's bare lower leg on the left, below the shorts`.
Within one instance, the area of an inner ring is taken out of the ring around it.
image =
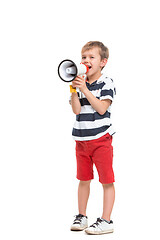
[[[78,187],[78,209],[79,214],[86,216],[87,202],[90,194],[90,182],[80,181]]]

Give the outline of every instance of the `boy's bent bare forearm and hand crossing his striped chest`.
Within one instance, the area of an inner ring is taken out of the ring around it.
[[[108,107],[111,105],[112,101],[109,99],[99,100],[97,99],[87,88],[85,79],[78,76],[74,81],[74,86],[78,87],[81,92],[86,96],[87,100],[91,106],[98,112],[100,115],[103,115]]]

